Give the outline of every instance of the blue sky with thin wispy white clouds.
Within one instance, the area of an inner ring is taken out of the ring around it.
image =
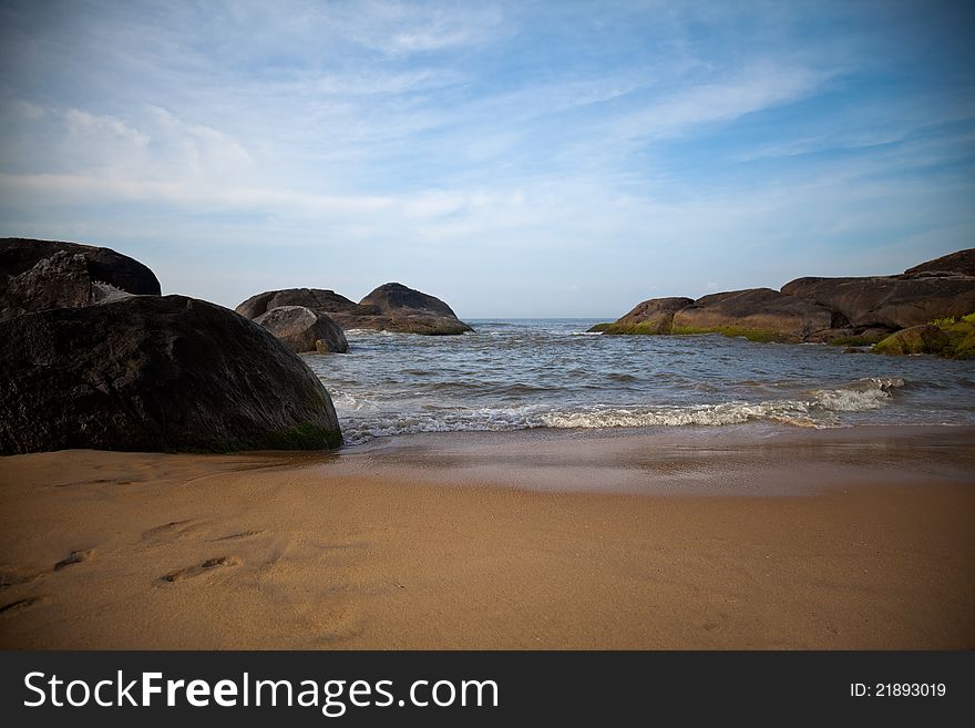
[[[0,236],[612,319],[975,246],[975,3],[0,0]]]

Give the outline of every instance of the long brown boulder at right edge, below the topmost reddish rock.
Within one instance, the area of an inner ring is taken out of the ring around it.
[[[837,328],[895,331],[975,311],[975,277],[963,275],[797,278],[782,293],[837,311]]]

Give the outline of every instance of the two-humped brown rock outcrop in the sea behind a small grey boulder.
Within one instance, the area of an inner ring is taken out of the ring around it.
[[[358,304],[333,290],[289,288],[253,296],[236,310],[247,318],[256,318],[280,306],[304,306],[316,314],[326,314],[346,330],[378,329],[429,336],[471,330],[439,298],[397,283],[380,286]]]

